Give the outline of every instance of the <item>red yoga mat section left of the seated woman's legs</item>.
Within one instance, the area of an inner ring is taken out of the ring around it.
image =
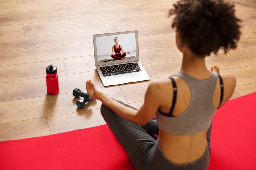
[[[0,142],[1,170],[130,170],[124,149],[107,125]]]

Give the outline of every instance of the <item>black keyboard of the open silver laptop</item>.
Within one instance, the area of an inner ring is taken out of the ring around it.
[[[138,63],[125,63],[125,64],[118,64],[118,65],[104,66],[104,67],[100,67],[100,70],[104,77],[141,71]]]

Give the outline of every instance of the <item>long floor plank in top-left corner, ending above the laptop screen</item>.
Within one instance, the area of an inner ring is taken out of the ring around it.
[[[32,2],[29,4],[16,4],[9,6],[0,6],[0,15],[13,15],[22,13],[45,12],[45,11],[60,11],[80,8],[99,7],[100,3],[97,0],[64,0],[64,1],[49,1]]]

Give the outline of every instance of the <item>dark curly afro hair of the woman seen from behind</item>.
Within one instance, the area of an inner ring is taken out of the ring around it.
[[[180,0],[173,5],[175,14],[172,28],[180,33],[183,44],[188,44],[198,56],[217,54],[224,49],[235,49],[241,32],[234,5],[223,0]]]

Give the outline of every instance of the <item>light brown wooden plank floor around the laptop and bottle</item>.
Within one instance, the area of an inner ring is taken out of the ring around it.
[[[168,10],[173,0],[0,0],[0,141],[105,124],[100,101],[76,107],[74,88],[92,79],[109,96],[139,108],[150,81],[181,66]],[[232,98],[256,92],[256,1],[234,0],[243,20],[238,48],[207,58],[237,79]],[[92,36],[138,30],[140,61],[151,80],[104,87]],[[58,68],[58,95],[46,94],[45,68]]]

